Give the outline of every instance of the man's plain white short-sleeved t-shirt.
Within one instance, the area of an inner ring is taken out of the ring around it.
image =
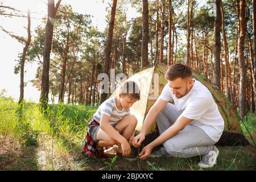
[[[212,94],[201,82],[193,79],[194,85],[187,95],[176,98],[168,84],[164,86],[160,98],[164,101],[174,100],[179,113],[188,119],[193,119],[189,125],[200,127],[215,142],[224,130],[224,119]]]

